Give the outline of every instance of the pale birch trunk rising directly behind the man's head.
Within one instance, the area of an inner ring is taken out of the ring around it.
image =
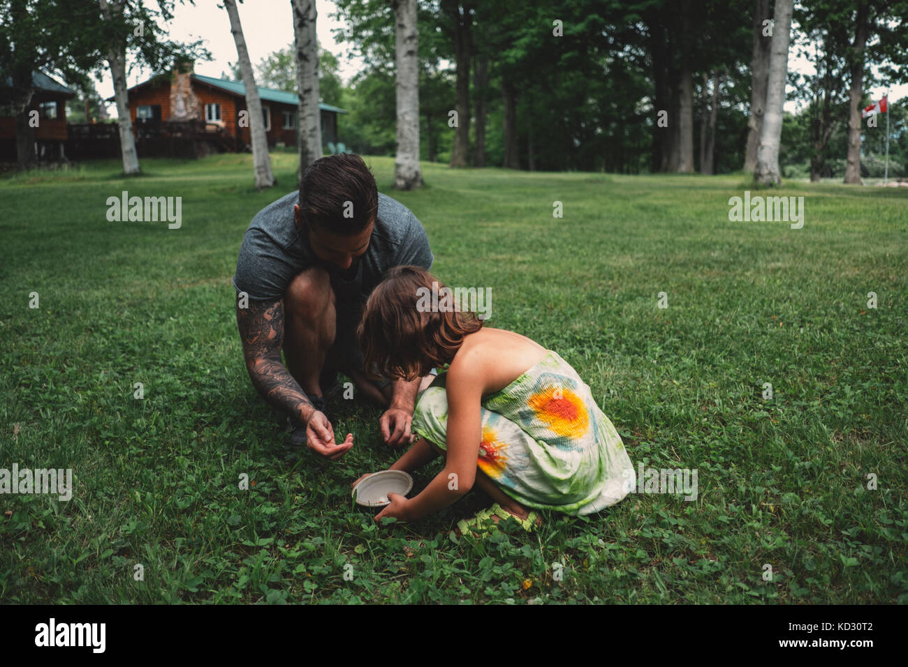
[[[315,34],[315,0],[291,0],[293,43],[296,48],[296,87],[300,98],[297,142],[300,170],[297,181],[312,162],[321,159],[321,111],[319,110],[319,40]]]

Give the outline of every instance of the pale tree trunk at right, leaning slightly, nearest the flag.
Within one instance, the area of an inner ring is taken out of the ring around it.
[[[785,78],[788,74],[793,5],[794,0],[775,0],[766,111],[754,170],[754,181],[760,185],[778,185],[782,182],[779,176],[779,140],[782,137],[782,117],[785,113]]]

